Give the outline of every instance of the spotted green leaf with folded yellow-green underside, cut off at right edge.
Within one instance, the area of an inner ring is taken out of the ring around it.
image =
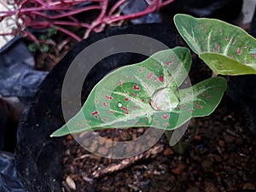
[[[256,39],[222,20],[175,15],[175,25],[189,47],[215,74],[256,74]]]

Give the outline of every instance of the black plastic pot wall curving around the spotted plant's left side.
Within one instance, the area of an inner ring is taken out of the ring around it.
[[[102,38],[127,33],[157,39],[170,48],[184,45],[174,27],[162,24],[113,28],[92,35],[77,44],[44,79],[30,108],[26,110],[20,121],[15,165],[27,191],[61,191],[64,154],[62,141],[65,137],[50,138],[49,135],[64,124],[61,112],[61,85],[67,68],[75,56],[88,45]],[[144,58],[144,55],[132,53],[108,56],[91,70],[85,79],[84,90],[89,92],[96,82],[114,68],[142,61]]]

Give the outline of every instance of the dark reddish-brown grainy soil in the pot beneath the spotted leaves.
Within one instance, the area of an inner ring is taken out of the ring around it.
[[[198,132],[184,154],[175,153],[163,136],[155,144],[164,146],[159,154],[97,178],[93,172],[121,160],[90,154],[68,136],[64,143],[67,150],[63,159],[63,191],[255,191],[256,141],[244,128],[242,111],[235,107],[224,97],[210,116],[197,119],[197,124],[191,120],[184,137],[191,136],[195,125]],[[142,132],[143,129],[129,129],[100,134],[123,141]]]

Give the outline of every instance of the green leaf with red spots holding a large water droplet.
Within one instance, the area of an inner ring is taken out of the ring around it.
[[[120,67],[96,84],[79,113],[51,137],[107,128],[173,130],[192,117],[209,115],[221,101],[226,81],[216,77],[180,89],[190,66],[189,49],[177,47]]]

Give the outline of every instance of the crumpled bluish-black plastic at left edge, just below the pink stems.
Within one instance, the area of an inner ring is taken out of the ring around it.
[[[0,95],[33,96],[47,72],[35,70],[32,54],[16,37],[0,49]]]

